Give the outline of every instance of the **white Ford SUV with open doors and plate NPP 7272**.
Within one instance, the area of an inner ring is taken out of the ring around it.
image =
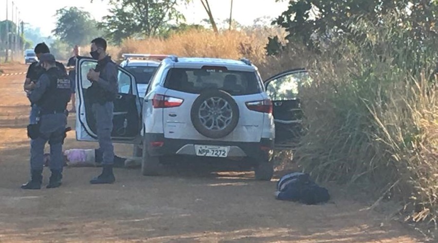
[[[95,121],[87,115],[91,109],[86,89],[91,84],[86,75],[96,62],[82,58],[76,65],[76,137],[95,141]],[[158,174],[160,163],[169,156],[197,156],[241,160],[255,168],[256,179],[270,180],[274,123],[285,125],[281,133],[296,130],[293,127],[300,123],[296,92],[288,89],[296,87],[300,75],[308,76],[297,69],[264,83],[246,59],[169,56],[156,70],[143,100],[135,77],[120,67],[112,139],[141,146],[137,155],[141,150],[144,175]],[[264,84],[279,99],[273,101],[274,107]],[[290,95],[283,99],[282,93]],[[274,121],[273,112],[282,119]]]

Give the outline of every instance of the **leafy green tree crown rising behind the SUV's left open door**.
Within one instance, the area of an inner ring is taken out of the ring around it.
[[[110,0],[110,15],[99,27],[116,43],[131,36],[155,36],[184,20],[177,10],[180,0]]]

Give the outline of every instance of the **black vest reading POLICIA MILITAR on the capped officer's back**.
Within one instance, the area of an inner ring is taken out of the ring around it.
[[[45,75],[49,76],[50,87],[37,105],[44,112],[62,112],[67,109],[72,95],[70,79],[63,70],[57,68],[47,70]]]

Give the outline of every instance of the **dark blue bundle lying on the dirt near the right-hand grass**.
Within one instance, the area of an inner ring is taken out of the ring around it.
[[[295,172],[280,178],[275,198],[313,205],[328,202],[330,195],[327,189],[313,182],[309,174]]]

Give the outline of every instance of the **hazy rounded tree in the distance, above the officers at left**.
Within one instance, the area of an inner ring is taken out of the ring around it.
[[[52,33],[70,46],[88,44],[93,37],[102,35],[90,13],[80,8],[58,9],[55,17],[56,28]]]

